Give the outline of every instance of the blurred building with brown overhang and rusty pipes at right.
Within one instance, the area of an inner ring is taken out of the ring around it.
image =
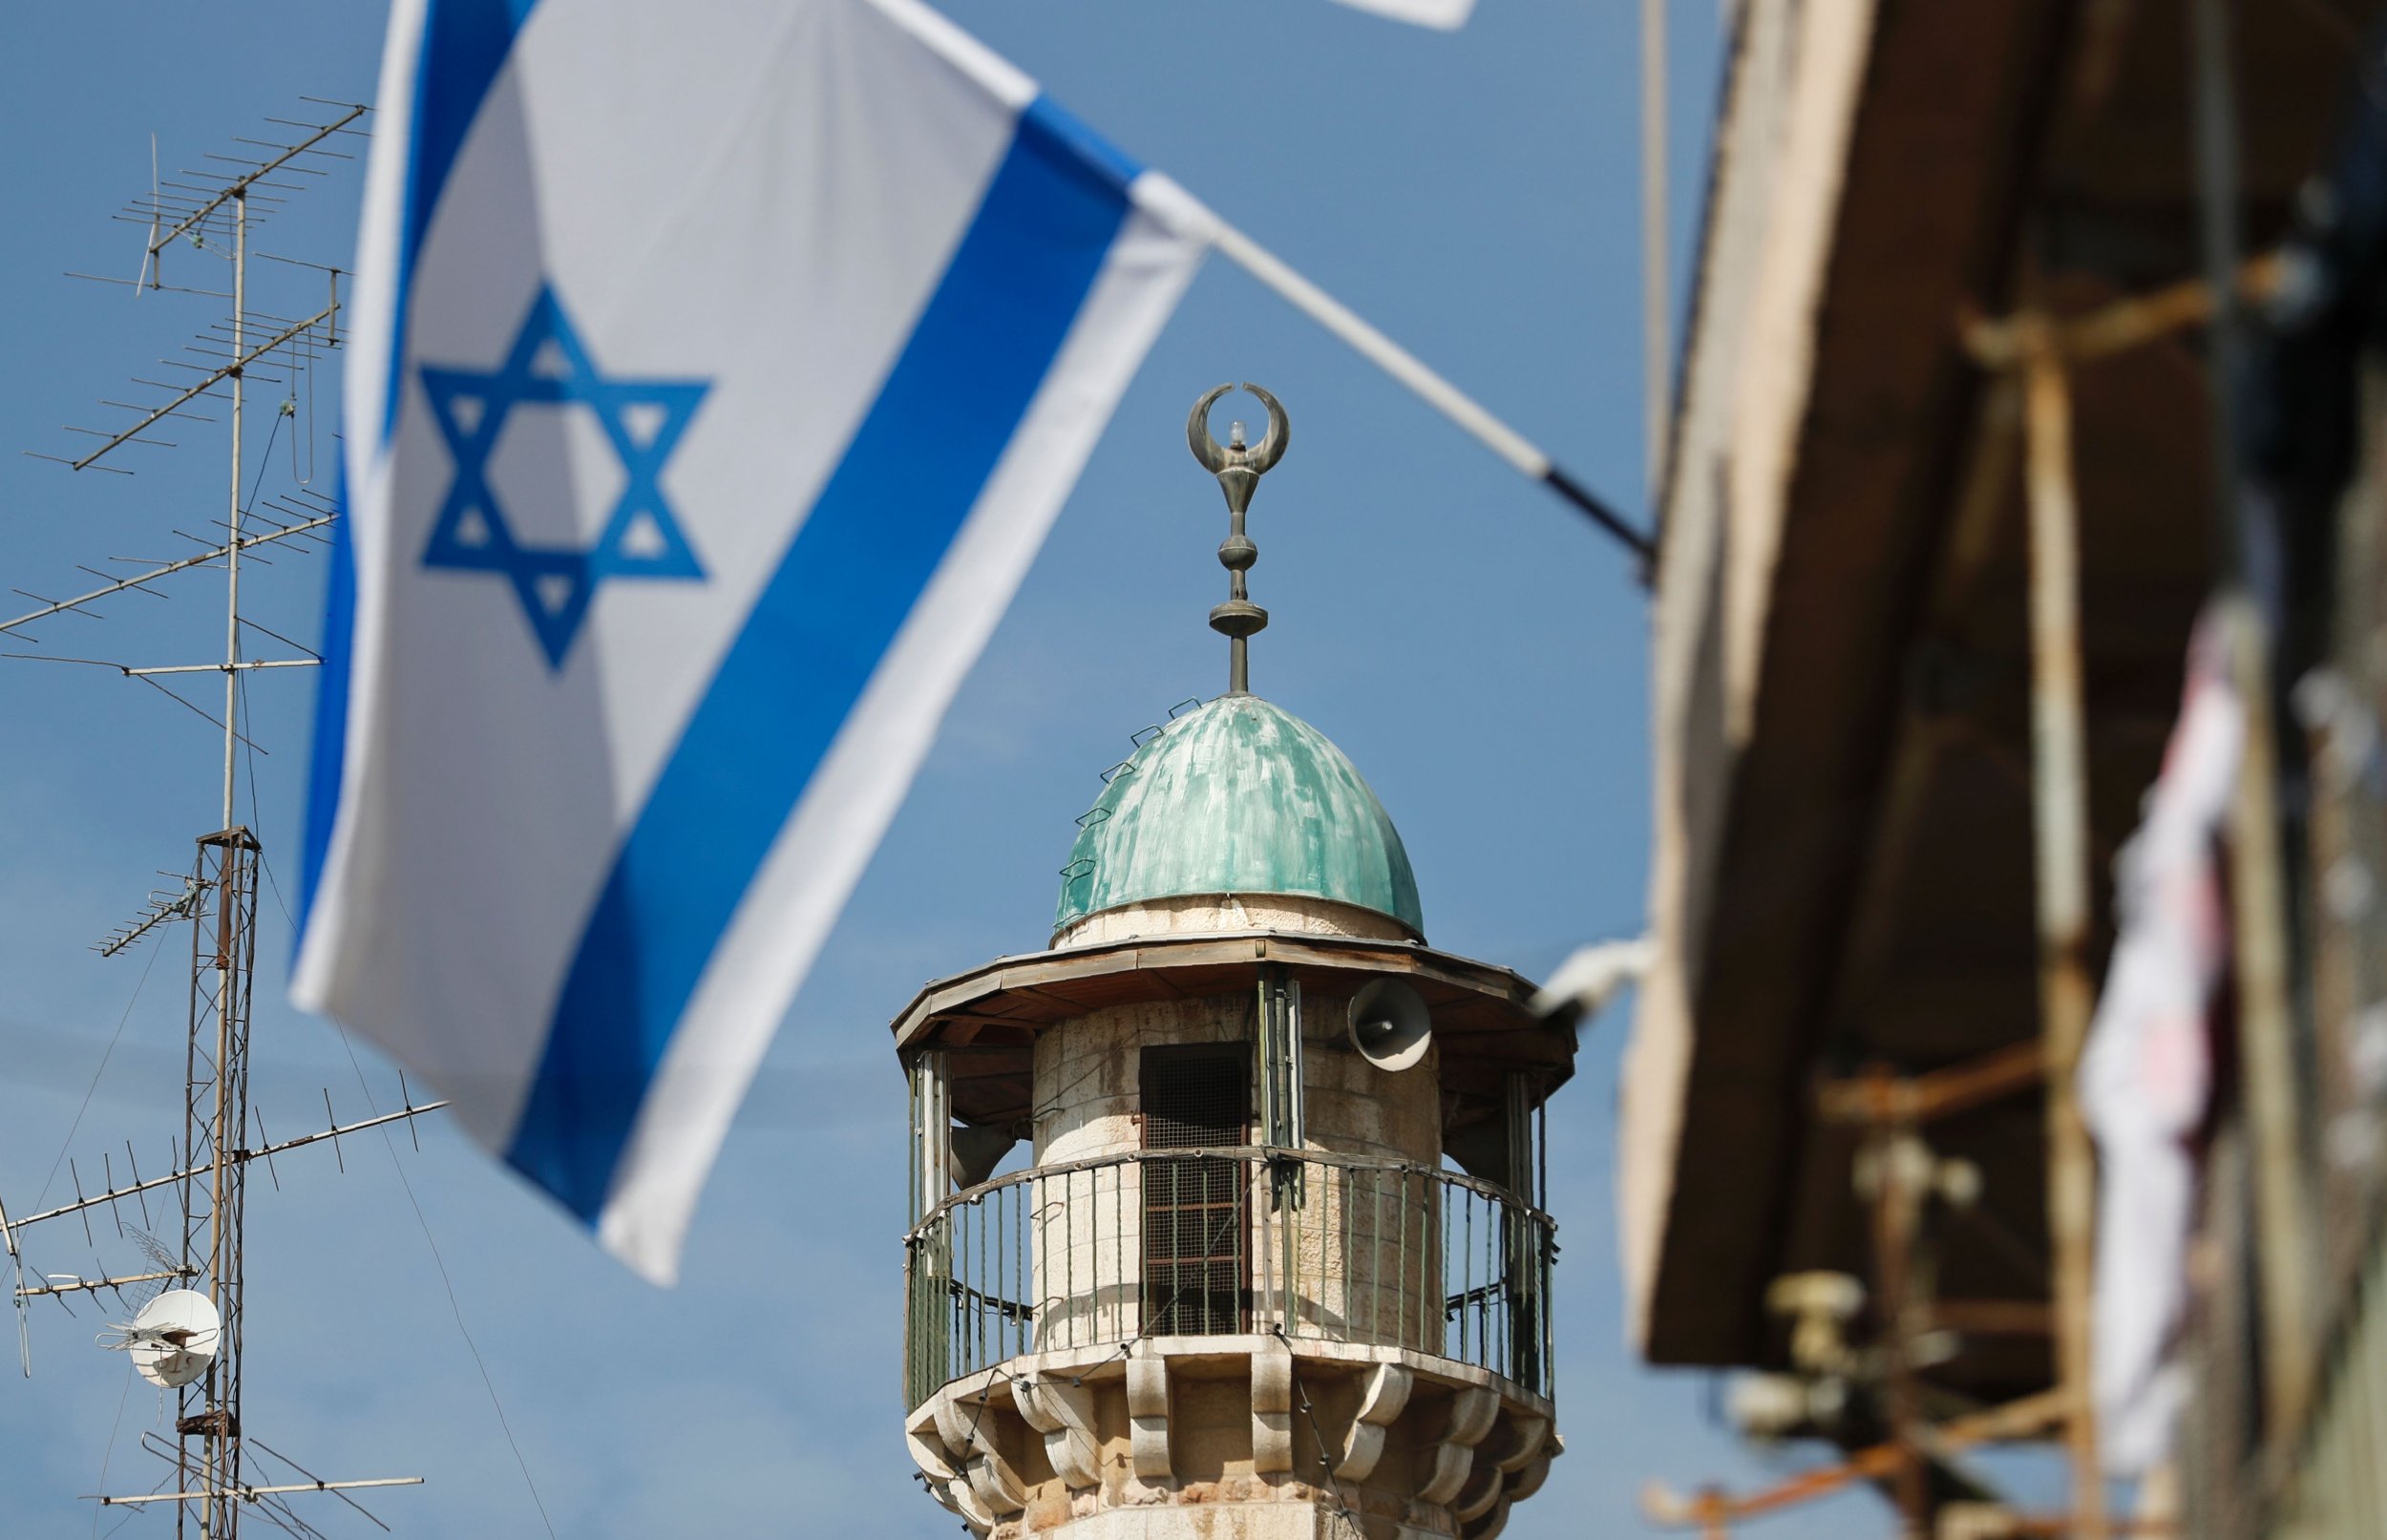
[[[1726,21],[1621,1242],[1642,1354],[1814,1461],[1657,1516],[1874,1483],[1907,1535],[2377,1535],[2380,7]],[[2246,723],[2218,957],[2122,1065],[2175,1127],[2091,1151],[2184,688]]]

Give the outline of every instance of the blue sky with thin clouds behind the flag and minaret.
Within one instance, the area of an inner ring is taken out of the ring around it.
[[[1456,36],[1325,0],[940,5],[1645,513],[1635,5],[1482,0]],[[14,7],[0,26],[12,146],[0,444],[57,454],[72,444],[60,425],[107,420],[98,399],[127,399],[129,375],[155,377],[150,361],[220,313],[62,277],[138,265],[141,232],[107,215],[146,186],[150,134],[172,172],[234,136],[267,136],[265,117],[303,115],[303,93],[370,98],[382,14],[243,0]],[[1673,33],[1683,251],[1719,69],[1714,5],[1676,5]],[[356,196],[353,174],[327,177],[258,246],[344,260]],[[313,308],[317,275],[260,275],[258,308]],[[169,277],[217,275],[193,255]],[[1096,774],[1172,702],[1225,688],[1225,645],[1203,628],[1225,587],[1222,511],[1182,439],[1186,404],[1220,380],[1267,384],[1296,427],[1253,511],[1253,597],[1272,614],[1253,688],[1368,774],[1408,843],[1430,938],[1542,974],[1578,941],[1637,929],[1647,606],[1626,561],[1213,260],[795,1003],[704,1196],[683,1287],[635,1282],[437,1120],[420,1153],[406,1136],[365,1134],[337,1158],[284,1158],[279,1191],[251,1187],[255,1437],[325,1476],[425,1476],[372,1502],[403,1535],[542,1533],[420,1203],[556,1533],[950,1533],[955,1521],[912,1487],[898,1435],[905,1108],[886,1022],[924,979],[1038,948]],[[313,425],[329,463],[334,382],[320,384],[322,423],[301,411],[296,425]],[[136,478],[0,456],[7,587],[64,592],[76,563],[196,549],[174,530],[220,516],[217,435],[189,425],[169,435],[179,449],[127,451],[146,456],[129,461]],[[308,468],[306,435],[296,463],[289,449],[284,437],[272,461],[253,451],[246,475],[267,494],[289,487]],[[253,580],[253,614],[315,637],[320,563],[279,561]],[[105,623],[36,628],[41,649],[203,661],[220,649],[217,580],[177,592],[117,602]],[[310,702],[301,671],[255,678],[251,723],[267,754],[241,797],[279,883],[263,905],[253,1031],[253,1103],[275,1134],[317,1122],[325,1089],[341,1117],[396,1096],[370,1048],[356,1048],[358,1072],[341,1039],[282,996],[279,898],[296,867]],[[64,1168],[45,1177],[62,1146],[86,1184],[100,1151],[127,1139],[143,1170],[165,1160],[186,953],[179,938],[115,960],[86,948],[215,826],[217,738],[107,671],[7,659],[0,721],[0,1196],[21,1213],[45,1179],[53,1201],[69,1184]],[[1621,1041],[1623,1017],[1602,1022],[1552,1110],[1568,1454],[1513,1516],[1521,1540],[1642,1533],[1647,1478],[1690,1487],[1766,1473],[1716,1425],[1704,1378],[1649,1373],[1626,1351],[1611,1215]],[[122,1265],[112,1225],[95,1234]],[[36,1239],[38,1265],[95,1265],[79,1230]],[[93,1514],[76,1495],[155,1480],[136,1440],[165,1413],[91,1344],[100,1316],[38,1311],[36,1378],[0,1380],[0,1533],[84,1533]],[[341,1509],[310,1516],[372,1533]],[[1838,1533],[1850,1519],[1843,1504],[1771,1530]],[[115,1523],[110,1511],[100,1533]],[[167,1526],[155,1514],[127,1533]]]

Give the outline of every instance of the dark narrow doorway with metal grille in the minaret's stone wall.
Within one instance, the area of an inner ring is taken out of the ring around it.
[[[1143,1148],[1234,1148],[1251,1134],[1244,1043],[1146,1048]],[[1143,1330],[1244,1330],[1251,1294],[1244,1163],[1201,1156],[1143,1163]]]

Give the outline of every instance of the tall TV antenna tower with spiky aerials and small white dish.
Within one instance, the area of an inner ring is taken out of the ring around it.
[[[69,597],[17,590],[33,609],[0,618],[0,642],[41,647],[31,633],[33,626],[48,630],[50,621],[103,618],[98,609],[103,602],[129,595],[165,597],[165,590],[177,587],[177,580],[193,571],[224,575],[222,661],[134,664],[48,649],[5,654],[115,671],[169,695],[222,728],[220,824],[198,836],[198,852],[186,874],[165,874],[172,886],[153,891],[134,919],[95,945],[100,955],[117,955],[167,926],[184,922],[191,926],[184,1127],[167,1151],[167,1170],[158,1177],[143,1177],[134,1148],[127,1144],[124,1175],[115,1170],[115,1151],[103,1153],[100,1191],[86,1194],[81,1168],[69,1160],[72,1203],[19,1220],[10,1220],[7,1211],[0,1208],[0,1253],[7,1256],[14,1275],[17,1342],[26,1375],[31,1375],[31,1349],[24,1316],[31,1301],[53,1301],[72,1311],[76,1299],[112,1296],[124,1308],[131,1308],[136,1296],[141,1299],[138,1313],[129,1323],[115,1325],[103,1342],[129,1349],[138,1373],[177,1397],[174,1437],[143,1440],[143,1447],[172,1468],[167,1483],[172,1490],[100,1495],[98,1502],[172,1504],[174,1533],[196,1533],[205,1540],[236,1540],[243,1511],[267,1519],[277,1528],[315,1535],[313,1523],[291,1509],[286,1495],[334,1492],[356,1507],[346,1495],[353,1487],[420,1483],[411,1476],[317,1480],[313,1473],[298,1483],[258,1483],[248,1473],[243,1452],[251,1444],[277,1466],[301,1468],[241,1428],[241,1301],[246,1292],[241,1222],[251,1163],[265,1160],[267,1172],[272,1172],[277,1153],[322,1141],[329,1141],[337,1153],[344,1134],[408,1122],[446,1105],[442,1101],[418,1105],[411,1094],[401,1091],[406,1103],[401,1110],[344,1125],[325,1094],[327,1127],[282,1141],[265,1134],[263,1113],[248,1105],[248,998],[255,969],[263,845],[255,831],[239,821],[234,800],[241,752],[255,747],[241,731],[243,676],[267,669],[308,669],[322,659],[241,609],[241,568],[246,563],[270,566],[265,547],[277,554],[325,547],[327,532],[339,518],[339,506],[306,482],[315,480],[315,372],[344,341],[341,279],[346,277],[332,265],[251,251],[251,236],[303,193],[308,181],[327,177],[332,167],[325,162],[356,160],[351,146],[365,136],[360,124],[368,112],[356,103],[301,100],[306,103],[301,117],[267,119],[279,129],[275,138],[239,138],[239,150],[205,155],[203,170],[162,174],[153,141],[148,193],[115,215],[146,229],[138,277],[84,272],[69,277],[127,284],[138,294],[229,298],[232,310],[224,320],[201,329],[179,356],[162,358],[165,377],[136,375],[134,392],[129,392],[134,399],[100,404],[112,413],[129,413],[127,418],[115,418],[115,425],[103,427],[69,427],[67,432],[81,439],[74,454],[26,451],[76,473],[131,475],[138,463],[127,461],[177,446],[174,439],[160,435],[174,432],[179,439],[186,425],[222,425],[232,451],[224,518],[210,520],[212,530],[208,532],[174,530],[196,549],[169,559],[110,556],[110,568],[79,568],[86,580],[76,583],[74,587],[81,592]],[[193,260],[193,253],[229,267],[229,291],[167,282],[167,258],[174,258],[174,277],[179,279],[181,265]],[[289,303],[277,296],[275,310],[258,308],[251,265],[260,260],[277,263],[277,275],[282,267],[296,270],[282,275],[286,282],[277,284],[277,291],[310,294],[313,298]],[[306,270],[320,275],[320,287],[303,279],[289,282]],[[263,468],[258,468],[255,480],[248,480],[251,384],[284,387],[282,399],[272,406],[265,458],[272,458],[275,439],[289,427],[296,489],[267,499],[258,497]],[[222,411],[222,418],[212,415],[215,411]],[[301,435],[306,435],[303,463]],[[255,652],[251,652],[253,647]],[[222,673],[222,719],[174,688],[181,676],[205,673]],[[251,795],[255,793],[251,790]],[[172,1246],[153,1242],[143,1227],[150,1222],[153,1196],[167,1218],[179,1220]],[[141,1225],[124,1222],[127,1203],[136,1206]],[[129,1273],[103,1268],[95,1277],[26,1273],[29,1230],[72,1218],[79,1220],[84,1242],[95,1251],[95,1213],[115,1222],[119,1242],[131,1242],[146,1253],[146,1268]],[[375,1523],[380,1521],[375,1519]]]

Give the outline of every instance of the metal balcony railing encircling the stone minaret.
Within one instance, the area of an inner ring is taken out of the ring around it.
[[[1506,1189],[1315,1151],[1134,1151],[957,1191],[905,1237],[905,1394],[1053,1349],[1282,1332],[1552,1392],[1556,1225]]]

